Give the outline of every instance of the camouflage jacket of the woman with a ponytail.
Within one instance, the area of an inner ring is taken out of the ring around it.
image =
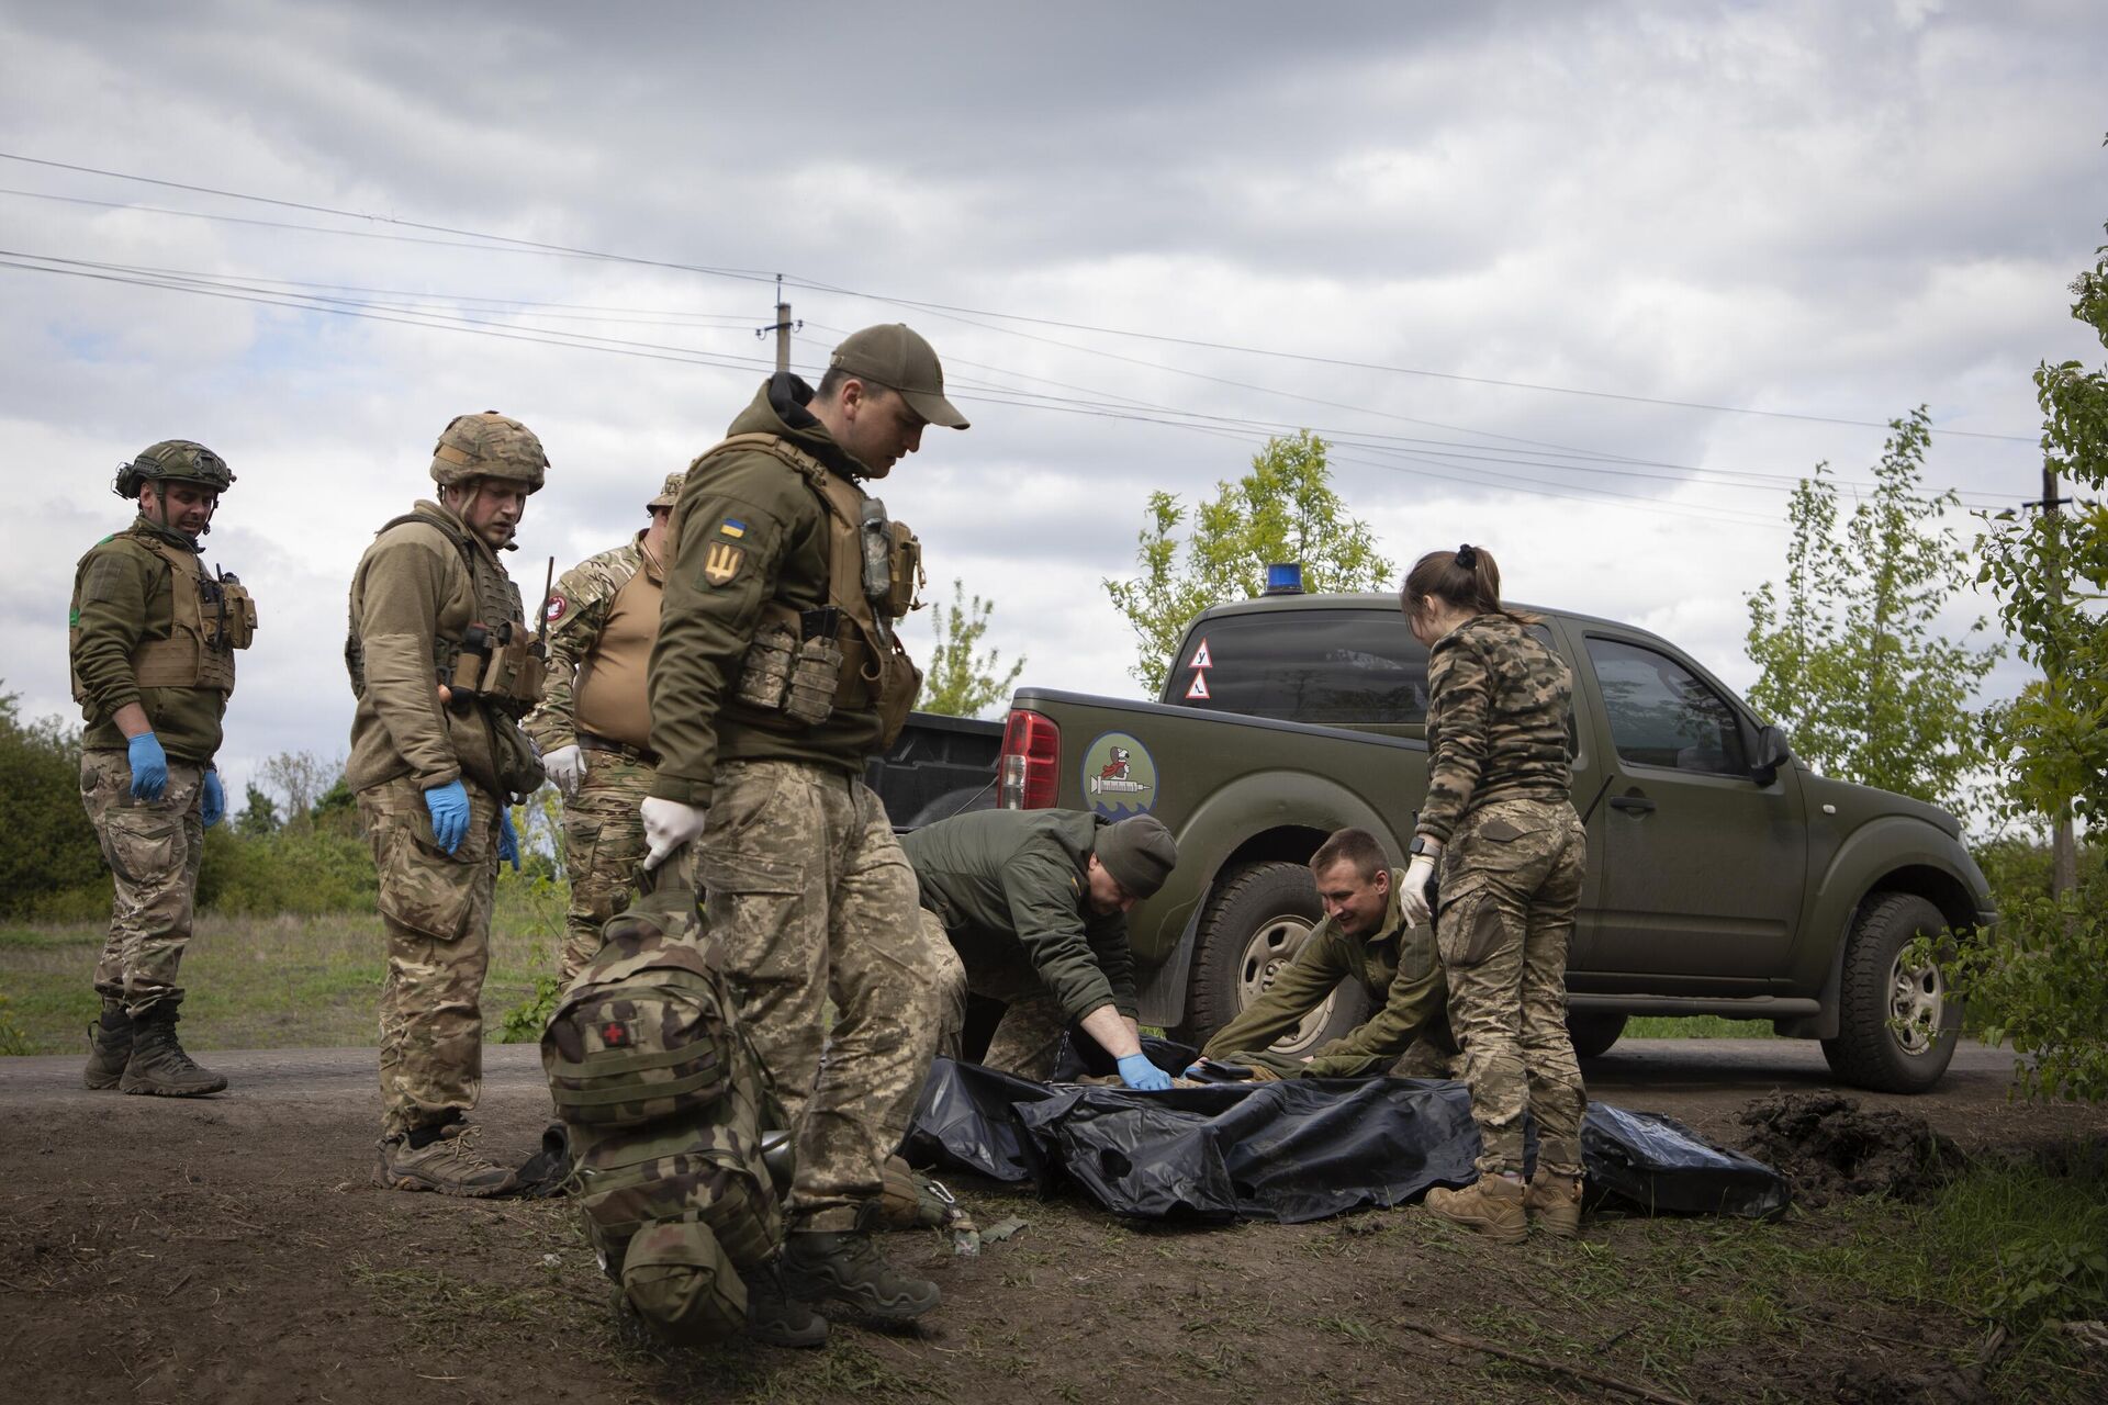
[[[1575,676],[1511,615],[1473,615],[1427,655],[1427,800],[1419,834],[1448,843],[1490,800],[1566,800]]]

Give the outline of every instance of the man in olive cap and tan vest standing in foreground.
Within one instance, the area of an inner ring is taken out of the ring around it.
[[[729,438],[689,466],[651,651],[660,771],[643,803],[645,862],[694,849],[740,1022],[797,1137],[782,1253],[793,1300],[769,1306],[786,1327],[818,1300],[892,1321],[938,1302],[856,1228],[957,979],[862,781],[921,687],[894,630],[921,548],[862,482],[930,423],[963,430],[965,417],[944,398],[936,352],[900,324],[835,348],[818,390],[788,371],[765,381]]]

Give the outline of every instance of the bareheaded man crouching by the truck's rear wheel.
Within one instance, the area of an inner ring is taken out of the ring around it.
[[[1387,866],[1368,830],[1336,830],[1311,855],[1311,878],[1324,921],[1267,992],[1208,1038],[1202,1057],[1273,1079],[1450,1076],[1448,986],[1433,929],[1408,923],[1398,899],[1404,872]],[[1374,1013],[1301,1060],[1273,1053],[1269,1045],[1294,1034],[1341,982],[1360,986]]]

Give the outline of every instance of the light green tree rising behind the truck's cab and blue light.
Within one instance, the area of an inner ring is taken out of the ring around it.
[[[1216,482],[1214,501],[1191,510],[1172,493],[1149,495],[1136,537],[1140,575],[1105,581],[1136,638],[1134,678],[1159,693],[1187,621],[1210,605],[1250,600],[1267,586],[1267,565],[1303,562],[1305,590],[1389,590],[1395,567],[1366,522],[1332,491],[1326,442],[1309,430],[1267,440],[1252,472]]]

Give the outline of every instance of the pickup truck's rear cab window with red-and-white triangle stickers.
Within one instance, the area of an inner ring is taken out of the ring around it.
[[[1164,701],[1288,723],[1425,723],[1427,651],[1398,611],[1212,619],[1187,636]]]

